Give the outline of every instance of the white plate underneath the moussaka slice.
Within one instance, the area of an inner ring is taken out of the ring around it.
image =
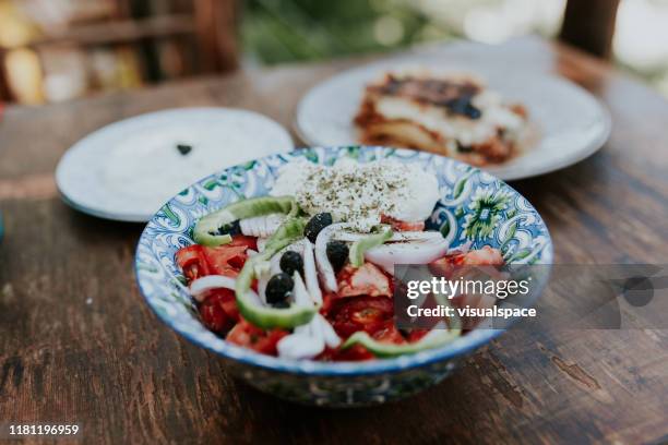
[[[610,134],[608,111],[589,93],[569,81],[512,63],[473,67],[448,61],[445,57],[441,60],[413,57],[341,73],[303,97],[297,111],[296,130],[309,145],[359,143],[353,118],[365,85],[389,70],[406,65],[476,74],[508,100],[527,107],[536,132],[532,146],[508,163],[485,167],[503,180],[534,177],[575,164],[600,148]]]

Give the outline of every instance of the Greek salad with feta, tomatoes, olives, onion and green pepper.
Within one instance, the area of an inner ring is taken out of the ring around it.
[[[267,196],[201,218],[176,260],[202,322],[231,344],[293,360],[414,353],[465,330],[454,318],[397,329],[394,264],[503,264],[496,249],[452,250],[425,230],[439,196],[417,165],[293,161]]]

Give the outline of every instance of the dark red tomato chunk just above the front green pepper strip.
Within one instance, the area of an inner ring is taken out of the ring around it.
[[[338,335],[349,337],[358,330],[372,335],[394,315],[392,300],[385,297],[355,297],[336,302],[327,318]]]

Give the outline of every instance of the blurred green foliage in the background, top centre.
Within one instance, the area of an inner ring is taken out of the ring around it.
[[[241,38],[261,63],[321,60],[446,38],[406,0],[246,0]]]

